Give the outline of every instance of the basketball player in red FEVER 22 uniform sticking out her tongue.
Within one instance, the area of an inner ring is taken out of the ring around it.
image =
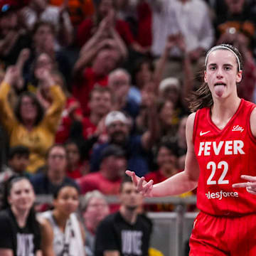
[[[154,186],[132,171],[127,174],[144,196],[174,196],[198,187],[201,213],[190,239],[191,256],[253,256],[256,109],[237,94],[242,80],[239,51],[230,45],[211,48],[204,80],[191,100],[184,171]]]

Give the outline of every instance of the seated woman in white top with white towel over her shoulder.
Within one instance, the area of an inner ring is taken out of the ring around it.
[[[56,256],[85,256],[85,235],[75,215],[79,206],[78,188],[72,185],[60,186],[53,194],[53,210],[42,213],[53,231],[53,250]],[[46,233],[47,235],[47,233]]]

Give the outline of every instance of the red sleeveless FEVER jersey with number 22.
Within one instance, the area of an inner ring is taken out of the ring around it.
[[[210,118],[210,108],[196,112],[193,143],[200,168],[197,206],[210,215],[238,216],[256,212],[256,196],[245,188],[232,188],[245,182],[242,174],[256,176],[256,139],[250,129],[255,108],[241,100],[237,112],[220,130]]]

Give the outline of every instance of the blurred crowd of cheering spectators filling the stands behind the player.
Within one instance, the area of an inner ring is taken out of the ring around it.
[[[1,208],[12,177],[36,195],[77,189],[93,255],[126,169],[155,183],[183,170],[187,99],[211,46],[240,50],[238,94],[256,102],[255,14],[252,0],[0,0]]]

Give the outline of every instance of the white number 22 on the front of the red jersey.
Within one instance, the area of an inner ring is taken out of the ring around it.
[[[216,164],[215,164],[215,162],[213,162],[213,161],[208,162],[206,168],[212,170],[211,173],[210,173],[210,176],[209,176],[209,178],[207,180],[207,185],[217,184],[217,181],[213,180],[213,176],[214,176],[215,171],[216,171]],[[218,169],[223,169],[223,173],[221,174],[220,178],[218,179],[218,184],[228,184],[229,181],[224,179],[225,176],[228,173],[228,163],[226,161],[220,161],[218,163],[217,168]]]

